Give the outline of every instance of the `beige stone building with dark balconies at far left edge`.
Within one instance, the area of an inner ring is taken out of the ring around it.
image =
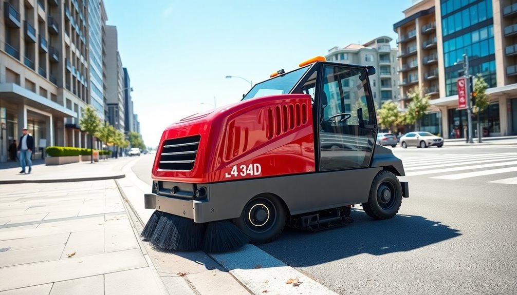
[[[0,161],[27,127],[36,153],[50,145],[87,146],[78,128],[90,103],[87,4],[8,0],[0,15]]]

